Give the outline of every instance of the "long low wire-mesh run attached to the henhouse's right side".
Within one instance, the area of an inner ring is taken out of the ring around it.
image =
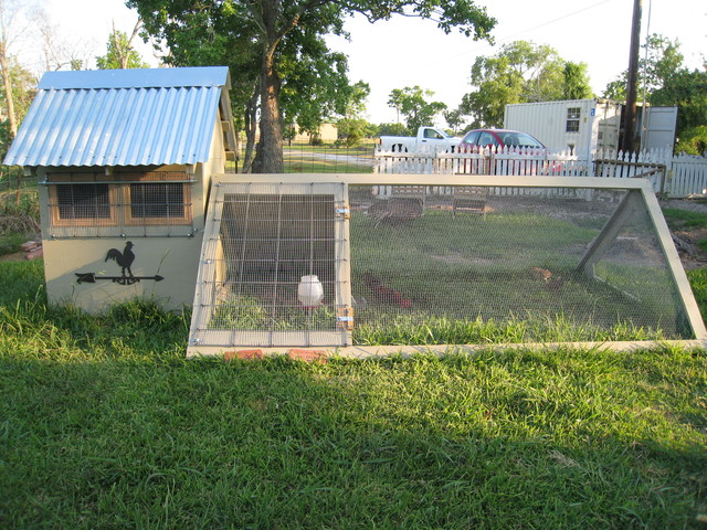
[[[640,181],[347,178],[219,187],[192,353],[705,338],[657,201]],[[298,289],[310,276],[323,296],[304,304]]]

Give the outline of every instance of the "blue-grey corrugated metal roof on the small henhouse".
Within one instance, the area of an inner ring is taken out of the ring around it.
[[[226,67],[46,73],[3,163],[204,162],[228,87]]]

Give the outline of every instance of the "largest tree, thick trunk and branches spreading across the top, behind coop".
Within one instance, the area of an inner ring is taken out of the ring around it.
[[[127,6],[138,10],[147,33],[172,51],[181,46],[200,54],[196,49],[205,36],[211,41],[205,53],[214,51],[215,43],[244,60],[249,74],[256,67],[256,78],[250,81],[260,98],[258,155],[265,172],[283,171],[282,66],[284,57],[293,59],[292,52],[283,53],[288,42],[296,47],[305,36],[320,40],[326,33],[342,34],[344,18],[352,13],[371,22],[393,14],[434,19],[447,33],[456,28],[475,39],[488,38],[495,24],[473,0],[127,0]],[[180,35],[193,34],[196,28],[201,33],[196,41]]]

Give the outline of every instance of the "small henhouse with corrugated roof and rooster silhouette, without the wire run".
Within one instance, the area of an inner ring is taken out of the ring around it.
[[[192,303],[229,88],[226,67],[44,74],[4,163],[38,178],[51,303]]]

